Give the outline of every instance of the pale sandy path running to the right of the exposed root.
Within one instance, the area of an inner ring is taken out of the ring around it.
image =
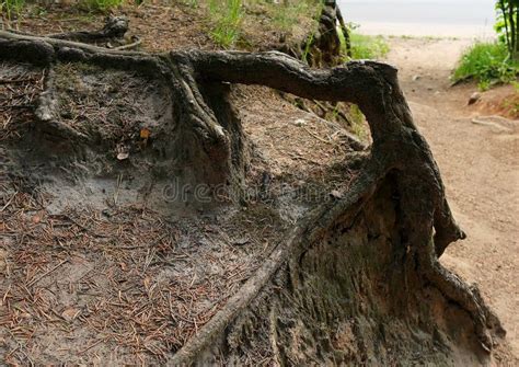
[[[440,167],[454,215],[469,238],[442,263],[477,283],[519,355],[519,124],[501,130],[473,124],[475,87],[449,88],[449,71],[470,42],[390,39],[389,62]],[[509,127],[510,127],[509,126]]]

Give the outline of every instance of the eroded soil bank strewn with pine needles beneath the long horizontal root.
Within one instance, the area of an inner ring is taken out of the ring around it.
[[[59,130],[33,114],[44,70],[1,70],[8,362],[512,364],[496,320],[488,354],[406,242],[427,221],[410,219],[404,174],[362,192],[371,152],[344,126],[265,87],[226,89],[246,174],[207,205],[174,186],[177,104],[160,80],[58,62]]]

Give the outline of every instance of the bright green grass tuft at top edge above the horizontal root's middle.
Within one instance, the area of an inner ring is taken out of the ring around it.
[[[210,0],[209,14],[216,24],[211,31],[212,41],[229,48],[240,36],[243,18],[242,0]]]

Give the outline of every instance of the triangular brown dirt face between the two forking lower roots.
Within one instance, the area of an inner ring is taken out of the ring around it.
[[[198,363],[491,364],[466,313],[420,279],[399,216],[388,182],[353,220],[299,248]]]

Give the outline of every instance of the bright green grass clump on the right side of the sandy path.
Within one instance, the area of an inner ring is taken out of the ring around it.
[[[461,57],[452,73],[452,80],[474,79],[480,89],[488,89],[497,82],[508,83],[517,79],[519,62],[510,58],[501,43],[476,43]]]

